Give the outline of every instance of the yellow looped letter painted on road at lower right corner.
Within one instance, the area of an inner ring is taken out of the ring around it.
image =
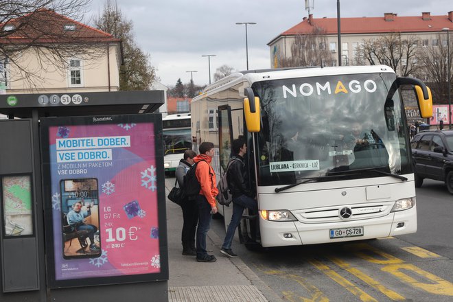
[[[409,283],[416,288],[420,288],[425,290],[426,292],[430,292],[431,294],[443,294],[445,296],[453,296],[453,283],[446,281],[437,277],[436,275],[432,275],[430,272],[426,270],[421,270],[414,266],[413,264],[391,264],[388,266],[384,266],[381,268],[384,272],[390,272],[395,277],[398,277],[402,281]],[[413,277],[406,275],[401,270],[410,270],[421,277],[424,277],[430,281],[430,283],[422,283],[421,281],[415,280]]]

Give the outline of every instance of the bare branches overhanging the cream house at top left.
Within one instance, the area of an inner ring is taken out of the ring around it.
[[[92,60],[102,57],[100,45],[112,37],[90,36],[80,23],[90,3],[91,0],[0,1],[0,60],[16,71],[9,80],[25,81],[33,89],[42,85],[48,69],[65,73],[67,58],[71,56]],[[32,56],[34,67],[24,54]]]

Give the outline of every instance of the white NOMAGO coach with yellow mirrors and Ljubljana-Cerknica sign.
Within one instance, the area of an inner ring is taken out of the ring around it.
[[[195,97],[193,149],[214,143],[217,179],[231,141],[247,141],[259,211],[244,215],[241,242],[290,246],[417,231],[403,84],[430,117],[428,87],[383,65],[244,71]],[[360,148],[351,146],[354,127],[368,135]],[[232,207],[218,207],[229,224]]]

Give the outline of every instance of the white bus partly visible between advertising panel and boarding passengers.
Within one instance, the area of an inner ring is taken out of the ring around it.
[[[190,113],[167,115],[162,119],[163,167],[165,173],[174,172],[185,150],[191,149]]]

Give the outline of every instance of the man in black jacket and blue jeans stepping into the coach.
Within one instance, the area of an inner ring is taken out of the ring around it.
[[[233,141],[233,158],[230,159],[230,167],[227,171],[228,188],[233,196],[233,216],[227,229],[224,242],[220,253],[227,257],[237,257],[231,250],[234,233],[242,219],[242,213],[245,208],[257,211],[258,205],[255,194],[248,187],[248,173],[244,164],[244,155],[247,152],[247,146],[244,139],[235,139]]]

